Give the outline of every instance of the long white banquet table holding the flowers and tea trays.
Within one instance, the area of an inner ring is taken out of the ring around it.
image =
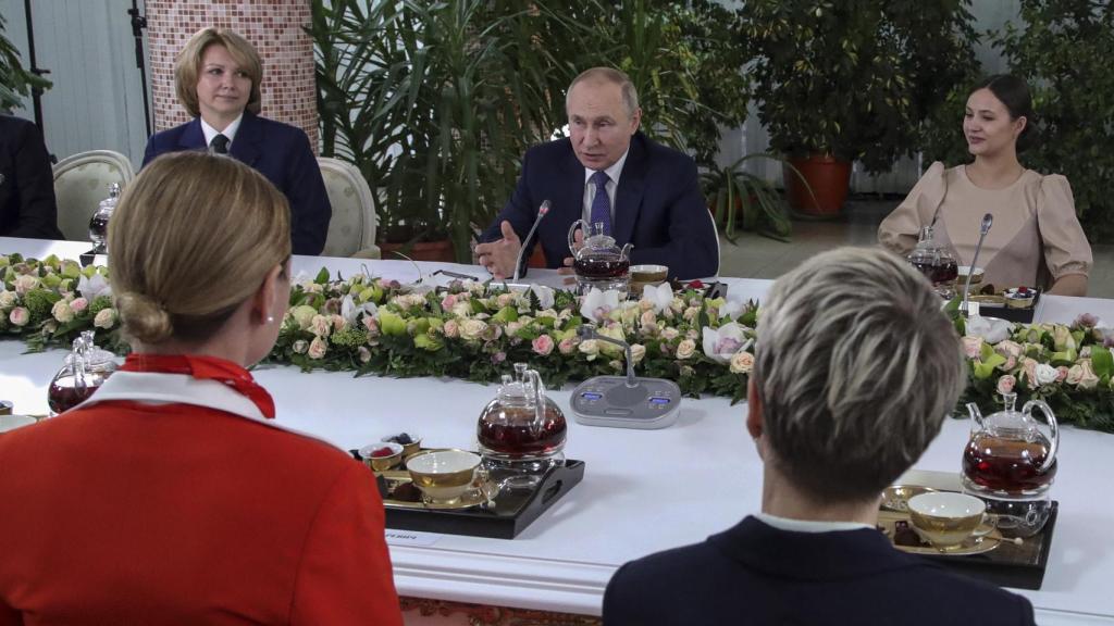
[[[75,242],[0,237],[0,254],[74,257]],[[473,266],[400,261],[294,257],[294,271],[424,281],[446,268],[476,276]],[[531,271],[560,284],[553,272]],[[735,294],[759,299],[770,281],[721,278]],[[1037,321],[1071,322],[1089,312],[1114,322],[1114,301],[1045,296]],[[0,341],[0,397],[17,412],[45,413],[46,388],[61,352],[23,354],[18,340]],[[556,353],[550,358],[558,358]],[[476,419],[495,388],[457,380],[353,378],[261,366],[278,421],[342,449],[408,431],[428,447],[475,446]],[[550,391],[571,418],[569,390]],[[760,509],[761,463],[743,427],[745,404],[723,398],[685,399],[673,427],[637,431],[585,427],[569,420],[566,456],[586,462],[584,480],[512,540],[389,532],[400,595],[527,609],[599,615],[608,578],[639,556],[703,540]],[[968,420],[948,420],[917,462],[918,470],[955,472]],[[1059,517],[1040,590],[1020,590],[1040,624],[1114,624],[1114,437],[1064,428],[1053,498]],[[4,471],[16,471],[4,468]],[[684,573],[677,573],[683,576]]]

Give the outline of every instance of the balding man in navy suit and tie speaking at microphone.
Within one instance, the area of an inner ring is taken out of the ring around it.
[[[584,218],[604,223],[619,246],[634,244],[632,264],[666,265],[671,277],[715,275],[719,241],[696,164],[638,131],[631,79],[589,69],[573,80],[565,108],[570,137],[526,153],[515,194],[476,246],[479,262],[497,278],[512,275],[522,239],[549,200],[522,258],[540,243],[549,267],[570,265],[568,229]]]

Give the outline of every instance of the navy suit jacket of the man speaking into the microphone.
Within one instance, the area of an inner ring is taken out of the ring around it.
[[[499,239],[504,219],[525,238],[546,199],[549,213],[538,225],[535,241],[527,242],[524,258],[540,242],[546,264],[560,267],[569,256],[568,228],[584,216],[584,165],[569,139],[527,150],[518,187],[482,241]],[[614,213],[612,234],[620,246],[634,244],[632,264],[667,265],[675,278],[719,273],[715,226],[700,190],[696,163],[687,155],[636,133],[615,189]]]

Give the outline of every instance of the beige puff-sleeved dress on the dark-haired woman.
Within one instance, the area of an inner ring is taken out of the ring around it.
[[[936,219],[937,242],[950,244],[960,265],[970,265],[983,215],[994,216],[979,266],[984,282],[999,288],[1048,287],[1061,276],[1091,272],[1091,244],[1075,216],[1067,178],[1026,169],[1003,189],[976,187],[960,165],[945,169],[934,163],[897,208],[878,227],[878,242],[908,254],[920,228]]]

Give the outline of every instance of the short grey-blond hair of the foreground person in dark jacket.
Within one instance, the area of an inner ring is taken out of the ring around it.
[[[880,248],[810,258],[774,283],[752,376],[772,459],[821,501],[864,501],[939,433],[967,382],[928,281]]]

